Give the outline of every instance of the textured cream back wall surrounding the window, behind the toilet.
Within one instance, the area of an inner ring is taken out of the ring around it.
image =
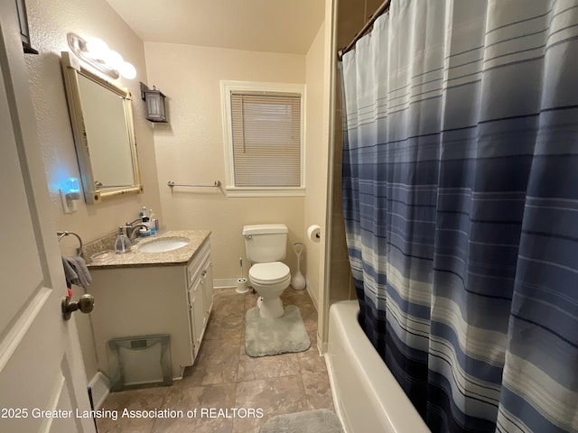
[[[170,124],[154,125],[158,182],[168,228],[211,230],[214,278],[221,284],[239,276],[238,258],[245,257],[244,225],[284,223],[289,227],[285,263],[293,273],[296,260],[291,243],[303,241],[303,197],[228,198],[219,189],[172,191],[166,182],[224,183],[219,81],[301,84],[305,82],[305,56],[153,42],[145,42],[144,49],[150,84],[169,98]]]

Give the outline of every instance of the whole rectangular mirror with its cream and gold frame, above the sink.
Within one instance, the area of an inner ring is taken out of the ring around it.
[[[85,201],[143,192],[130,92],[85,69],[68,51],[61,63]]]

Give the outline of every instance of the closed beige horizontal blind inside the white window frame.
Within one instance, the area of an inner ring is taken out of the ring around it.
[[[301,186],[301,96],[231,93],[237,187]]]

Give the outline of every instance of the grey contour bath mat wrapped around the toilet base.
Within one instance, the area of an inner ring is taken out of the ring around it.
[[[245,318],[245,353],[248,356],[303,352],[311,345],[301,313],[294,305],[285,307],[282,318],[262,318],[257,307],[249,309]]]

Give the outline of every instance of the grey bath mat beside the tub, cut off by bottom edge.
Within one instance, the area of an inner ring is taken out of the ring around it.
[[[287,413],[268,419],[260,433],[340,433],[340,419],[327,409]]]

